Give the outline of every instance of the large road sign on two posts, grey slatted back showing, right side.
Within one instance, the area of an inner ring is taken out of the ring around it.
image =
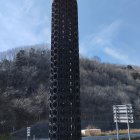
[[[119,130],[118,123],[127,123],[128,127],[128,137],[130,140],[130,126],[129,123],[134,123],[133,118],[132,105],[114,105],[113,106],[113,114],[114,114],[114,122],[116,123],[117,129],[117,140],[119,140]]]

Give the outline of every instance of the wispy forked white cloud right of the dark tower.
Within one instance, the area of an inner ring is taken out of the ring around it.
[[[114,40],[117,37],[123,22],[115,20],[108,26],[102,27],[97,33],[87,36],[80,44],[80,53],[93,57],[95,53],[106,54],[113,59],[128,63],[128,55],[117,49]]]

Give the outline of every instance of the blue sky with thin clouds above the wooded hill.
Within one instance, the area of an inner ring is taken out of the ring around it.
[[[0,51],[49,43],[52,0],[0,0]],[[140,66],[140,0],[78,0],[80,54]]]

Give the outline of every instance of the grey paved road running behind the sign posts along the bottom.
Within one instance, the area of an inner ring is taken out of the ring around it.
[[[115,139],[116,135],[110,135],[110,136],[94,136],[94,137],[85,137],[82,138],[82,140],[111,140]],[[128,138],[128,135],[120,135],[119,138]],[[131,134],[131,138],[140,138],[140,134]],[[40,139],[40,140],[49,140],[49,139]]]

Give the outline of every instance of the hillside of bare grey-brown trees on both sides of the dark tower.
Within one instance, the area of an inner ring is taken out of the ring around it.
[[[140,111],[140,70],[80,58],[82,120],[132,103]],[[20,50],[0,61],[0,131],[48,119],[50,51]]]

